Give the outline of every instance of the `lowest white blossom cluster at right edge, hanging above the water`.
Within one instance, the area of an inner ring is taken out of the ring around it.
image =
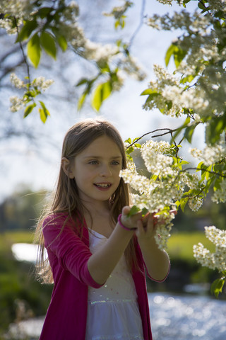
[[[206,237],[215,244],[215,253],[211,253],[203,244],[194,245],[194,257],[210,269],[218,269],[219,272],[226,270],[226,231],[215,226],[205,227]]]

